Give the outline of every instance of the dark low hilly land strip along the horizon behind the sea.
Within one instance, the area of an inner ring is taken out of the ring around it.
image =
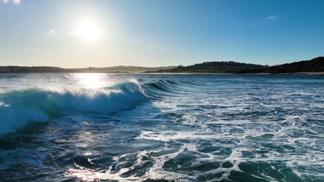
[[[147,68],[140,66],[114,66],[107,68],[57,68],[47,66],[0,66],[2,73],[32,72],[120,72],[120,73],[236,73],[236,74],[280,74],[302,72],[324,72],[324,57],[309,61],[298,61],[282,65],[258,65],[234,61],[213,61],[195,65],[178,65]]]

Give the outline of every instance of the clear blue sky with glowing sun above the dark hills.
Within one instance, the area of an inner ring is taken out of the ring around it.
[[[0,1],[0,65],[276,65],[324,56],[322,0]]]

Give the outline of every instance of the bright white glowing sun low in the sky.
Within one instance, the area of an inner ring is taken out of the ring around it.
[[[101,28],[99,23],[93,19],[81,19],[78,22],[77,28],[71,34],[88,42],[98,41],[101,36]]]

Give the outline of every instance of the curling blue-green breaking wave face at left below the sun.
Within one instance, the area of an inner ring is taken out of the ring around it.
[[[100,89],[6,92],[0,94],[0,134],[15,132],[28,121],[50,121],[73,112],[118,112],[145,100],[136,82]]]

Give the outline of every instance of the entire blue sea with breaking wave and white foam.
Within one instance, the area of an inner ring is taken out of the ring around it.
[[[324,181],[324,76],[0,74],[0,181]]]

